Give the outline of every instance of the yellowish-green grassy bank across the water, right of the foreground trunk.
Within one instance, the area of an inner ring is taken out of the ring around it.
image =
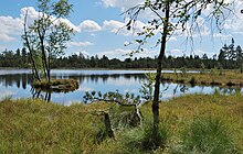
[[[204,73],[163,73],[163,81],[207,85],[219,87],[243,87],[243,74],[233,70],[210,70]]]

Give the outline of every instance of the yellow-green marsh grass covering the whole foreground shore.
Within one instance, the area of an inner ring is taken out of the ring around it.
[[[104,119],[93,112],[114,103],[65,107],[39,99],[7,98],[0,101],[0,152],[240,154],[243,153],[242,102],[241,94],[189,95],[161,102],[162,142],[159,148],[150,151],[150,102],[140,108],[144,124],[135,128],[114,127],[120,118],[112,114],[118,113],[118,108],[113,108],[109,117],[115,139],[110,139],[104,133]],[[125,110],[130,109],[124,107]]]

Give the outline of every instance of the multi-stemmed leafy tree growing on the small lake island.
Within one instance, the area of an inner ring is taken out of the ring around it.
[[[28,11],[24,19],[24,46],[30,52],[34,78],[41,80],[40,73],[51,80],[51,64],[54,57],[64,54],[66,42],[74,33],[65,22],[72,11],[67,0],[38,0],[39,16],[28,25]]]

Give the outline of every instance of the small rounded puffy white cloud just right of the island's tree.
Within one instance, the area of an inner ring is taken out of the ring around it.
[[[85,20],[83,21],[78,26],[80,31],[85,32],[97,32],[102,31],[102,26],[99,26],[95,21],[92,20]]]

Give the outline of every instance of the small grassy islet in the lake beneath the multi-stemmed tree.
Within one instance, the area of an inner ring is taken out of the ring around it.
[[[53,91],[73,91],[78,88],[78,81],[76,79],[43,79],[41,81],[33,81],[32,86],[41,90],[53,90]]]

